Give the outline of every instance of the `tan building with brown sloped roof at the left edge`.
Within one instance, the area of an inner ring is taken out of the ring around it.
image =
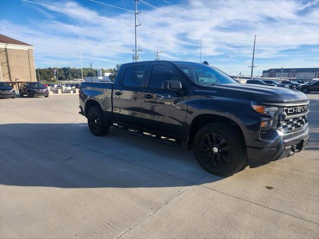
[[[30,44],[0,34],[0,81],[16,88],[21,82],[36,81],[33,48]]]

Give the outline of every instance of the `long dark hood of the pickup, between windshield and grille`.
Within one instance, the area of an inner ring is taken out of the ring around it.
[[[292,103],[308,100],[304,93],[283,87],[253,84],[224,84],[208,87],[210,89],[214,88],[218,96],[229,96],[258,102]]]

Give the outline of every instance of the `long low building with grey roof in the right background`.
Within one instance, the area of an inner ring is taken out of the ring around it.
[[[280,78],[281,68],[263,71],[263,77]],[[319,78],[319,68],[283,68],[283,78],[311,81]]]

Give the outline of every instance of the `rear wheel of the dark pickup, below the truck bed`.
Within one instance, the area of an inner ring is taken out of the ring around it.
[[[99,106],[93,106],[89,109],[88,125],[91,133],[96,136],[102,136],[109,132],[110,126],[105,124],[102,109]]]

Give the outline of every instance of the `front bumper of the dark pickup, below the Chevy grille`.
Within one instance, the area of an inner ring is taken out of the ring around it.
[[[288,137],[287,135],[277,135],[276,141],[278,142],[276,147],[267,147],[269,144],[265,144],[265,147],[247,146],[250,167],[257,167],[270,161],[286,158],[305,149],[309,142],[308,123],[298,134],[294,133]]]

